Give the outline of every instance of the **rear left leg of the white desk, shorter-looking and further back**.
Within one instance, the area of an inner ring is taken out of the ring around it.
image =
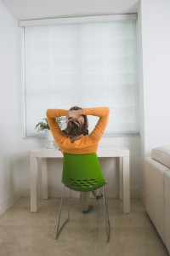
[[[42,158],[42,199],[48,199],[48,169],[46,158]]]

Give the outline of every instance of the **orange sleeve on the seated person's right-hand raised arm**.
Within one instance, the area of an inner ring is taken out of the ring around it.
[[[97,125],[94,130],[89,134],[90,139],[94,143],[99,143],[100,138],[105,132],[105,128],[109,119],[110,109],[108,107],[101,108],[83,108],[83,114],[94,115],[99,117]]]

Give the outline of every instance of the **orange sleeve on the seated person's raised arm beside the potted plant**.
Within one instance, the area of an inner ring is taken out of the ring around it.
[[[49,128],[54,136],[54,140],[58,143],[64,136],[63,132],[56,121],[59,116],[66,116],[68,110],[65,109],[48,109],[46,112]]]

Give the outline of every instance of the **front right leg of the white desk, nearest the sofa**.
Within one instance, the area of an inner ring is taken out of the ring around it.
[[[130,178],[129,178],[129,157],[122,160],[123,167],[123,212],[130,212]]]

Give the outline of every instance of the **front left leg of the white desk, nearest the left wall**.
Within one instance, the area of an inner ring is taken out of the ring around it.
[[[37,157],[30,159],[31,174],[31,212],[37,212]]]

